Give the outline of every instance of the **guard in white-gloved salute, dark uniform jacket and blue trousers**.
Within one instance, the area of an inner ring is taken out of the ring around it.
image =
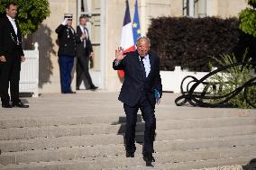
[[[59,72],[62,94],[75,94],[71,90],[71,72],[76,57],[76,43],[78,42],[76,31],[72,28],[73,15],[66,13],[64,21],[56,29],[59,40]],[[81,37],[80,39],[83,39]]]

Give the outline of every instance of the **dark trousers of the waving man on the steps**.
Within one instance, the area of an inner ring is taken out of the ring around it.
[[[131,107],[123,103],[123,109],[126,114],[126,130],[125,130],[125,149],[128,152],[135,152],[135,127],[137,122],[137,112],[140,109],[142,111],[142,118],[145,121],[145,131],[144,131],[144,144],[143,144],[143,154],[153,153],[153,141],[155,138],[156,130],[156,118],[154,106],[152,106],[147,100],[145,94],[137,105]]]

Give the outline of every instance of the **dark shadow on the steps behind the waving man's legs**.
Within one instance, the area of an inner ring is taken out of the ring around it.
[[[120,128],[117,132],[117,135],[123,135],[123,145],[125,144],[125,116],[119,117],[118,121],[114,121],[112,125],[118,125],[120,124]],[[142,115],[137,115],[137,124],[136,124],[136,136],[135,136],[135,142],[139,143],[140,145],[144,142],[144,130],[145,130],[145,122],[142,122]]]

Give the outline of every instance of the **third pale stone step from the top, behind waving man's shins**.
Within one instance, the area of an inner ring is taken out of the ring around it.
[[[256,128],[254,125],[183,130],[157,130],[156,140],[202,139],[254,134],[256,134]],[[136,141],[143,141],[143,132],[136,133]],[[2,152],[15,152],[32,149],[69,148],[122,143],[123,134],[97,134],[59,138],[1,140],[0,148]]]

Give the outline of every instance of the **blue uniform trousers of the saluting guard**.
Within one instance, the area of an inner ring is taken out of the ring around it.
[[[74,65],[74,58],[70,56],[59,56],[59,72],[61,93],[71,91],[71,72]]]

